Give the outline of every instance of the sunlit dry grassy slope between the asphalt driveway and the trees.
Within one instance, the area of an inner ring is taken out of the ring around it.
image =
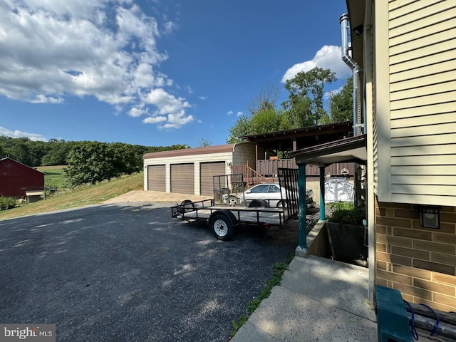
[[[25,204],[14,209],[2,210],[0,211],[0,219],[9,219],[28,214],[38,214],[41,212],[50,212],[58,209],[83,207],[89,204],[98,204],[107,199],[123,195],[125,192],[142,190],[143,185],[143,172],[135,175],[123,176],[117,180],[110,180],[110,182],[81,187],[76,190],[71,190],[71,192],[67,192],[63,195],[48,197],[48,199],[44,201]]]

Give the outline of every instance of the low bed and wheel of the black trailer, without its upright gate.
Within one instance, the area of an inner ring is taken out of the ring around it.
[[[185,199],[171,207],[171,216],[187,222],[205,222],[219,240],[231,239],[240,225],[281,227],[288,219],[284,208],[229,207],[214,205],[213,199],[198,202]]]

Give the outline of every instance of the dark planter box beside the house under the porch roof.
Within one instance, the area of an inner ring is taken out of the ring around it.
[[[368,247],[364,245],[364,227],[326,222],[333,259],[367,266]]]

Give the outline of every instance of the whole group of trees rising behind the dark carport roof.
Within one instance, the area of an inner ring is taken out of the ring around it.
[[[227,142],[240,142],[244,135],[353,120],[352,78],[348,78],[340,92],[330,95],[329,113],[323,105],[325,86],[334,81],[336,74],[330,69],[317,67],[300,72],[286,81],[288,98],[280,105],[276,101],[281,90],[277,86],[265,86],[247,105],[249,113],[237,118],[230,128]]]

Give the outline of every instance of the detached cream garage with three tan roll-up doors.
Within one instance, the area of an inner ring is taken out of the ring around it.
[[[144,190],[214,195],[213,177],[231,174],[231,167],[255,167],[256,155],[271,155],[248,142],[197,147],[144,155]]]

